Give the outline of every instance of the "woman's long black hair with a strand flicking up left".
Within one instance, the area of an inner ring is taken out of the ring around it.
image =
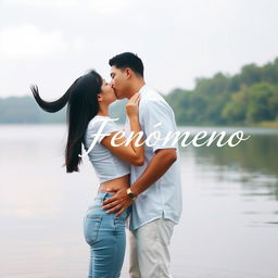
[[[30,86],[39,106],[50,113],[58,112],[67,103],[66,123],[68,128],[65,148],[66,172],[78,172],[81,162],[81,143],[89,122],[99,112],[98,93],[101,92],[102,77],[96,72],[77,78],[67,91],[56,101],[48,102],[40,98],[38,87]]]

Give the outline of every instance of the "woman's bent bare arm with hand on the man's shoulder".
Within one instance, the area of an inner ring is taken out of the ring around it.
[[[128,103],[126,104],[126,113],[129,118],[130,124],[130,131],[134,131],[134,134],[138,134],[141,131],[140,123],[139,123],[139,100],[140,94],[136,93],[134,94]],[[125,137],[116,138],[114,140],[115,146],[112,146],[112,138],[116,132],[112,132],[110,136],[106,136],[102,139],[101,144],[106,147],[110,151],[112,151],[114,154],[116,154],[122,160],[136,165],[136,166],[142,166],[144,164],[144,151],[143,146],[141,146],[142,140],[140,139],[138,143],[140,146],[136,146],[135,142],[137,141],[137,136],[132,136],[132,140],[125,146]],[[119,146],[121,144],[121,146]]]

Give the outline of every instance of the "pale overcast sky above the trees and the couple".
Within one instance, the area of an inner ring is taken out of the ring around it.
[[[0,0],[0,98],[61,97],[130,51],[162,93],[278,56],[276,0]]]

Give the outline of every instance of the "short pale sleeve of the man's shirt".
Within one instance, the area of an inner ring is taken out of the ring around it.
[[[166,102],[149,100],[143,110],[142,122],[146,137],[150,136],[148,142],[153,152],[160,149],[177,149],[175,137],[167,137],[169,139],[166,142],[163,140],[169,132],[177,131],[174,112]]]

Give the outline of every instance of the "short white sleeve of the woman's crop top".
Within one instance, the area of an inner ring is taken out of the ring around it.
[[[105,124],[103,122],[105,122]],[[99,143],[112,132],[119,131],[119,127],[114,122],[112,122],[111,118],[98,119],[90,124],[90,140],[93,139],[93,136],[98,134],[98,131],[100,130],[100,128],[102,128],[102,126],[103,126],[103,129],[101,131],[101,136],[98,136]]]

